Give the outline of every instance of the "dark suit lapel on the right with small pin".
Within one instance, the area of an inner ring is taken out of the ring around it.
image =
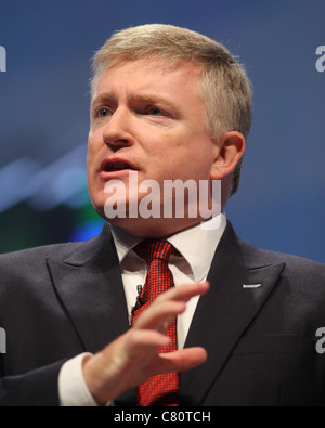
[[[245,252],[247,249],[245,249]],[[252,247],[251,247],[252,248]],[[199,405],[235,345],[261,310],[285,264],[249,268],[229,224],[208,275],[210,290],[199,299],[185,347],[202,346],[205,364],[181,374],[184,404]],[[243,285],[248,287],[243,287]],[[261,284],[261,285],[259,285]],[[257,285],[250,287],[251,285]]]

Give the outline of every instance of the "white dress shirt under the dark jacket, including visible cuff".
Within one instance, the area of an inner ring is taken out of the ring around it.
[[[216,222],[216,220],[218,220]],[[213,228],[208,228],[213,221]],[[214,226],[214,225],[218,225]],[[182,231],[167,241],[172,244],[182,257],[171,256],[169,268],[173,275],[174,285],[199,283],[207,278],[214,251],[224,232],[226,219],[223,213],[218,219],[205,222]],[[125,287],[129,320],[131,310],[138,297],[138,285],[145,283],[147,263],[140,258],[132,248],[141,241],[139,237],[112,226],[112,234],[116,245],[120,263],[122,283]],[[178,316],[178,345],[184,347],[191,321],[199,297],[192,298],[186,303],[185,311]],[[82,353],[67,361],[61,368],[58,376],[58,394],[61,405],[95,405],[82,376]]]

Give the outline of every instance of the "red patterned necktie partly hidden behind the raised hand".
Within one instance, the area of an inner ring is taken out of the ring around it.
[[[140,296],[145,303],[133,312],[131,325],[134,324],[139,314],[145,310],[156,297],[174,285],[172,273],[168,267],[168,260],[171,254],[180,256],[167,241],[145,239],[134,248],[134,251],[145,259],[150,267]],[[160,347],[158,349],[159,353],[172,352],[178,349],[176,319],[170,325],[167,336],[170,338],[170,343],[167,347]],[[138,405],[179,405],[179,374],[174,372],[156,375],[140,385],[138,388]]]

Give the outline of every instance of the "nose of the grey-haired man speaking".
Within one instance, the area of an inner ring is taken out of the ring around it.
[[[112,114],[106,122],[103,129],[103,140],[113,151],[133,144],[130,116],[130,112],[120,107]]]

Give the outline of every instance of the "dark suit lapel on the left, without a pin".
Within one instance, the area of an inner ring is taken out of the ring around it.
[[[129,328],[118,258],[107,225],[66,260],[49,259],[48,267],[84,351],[99,351]]]

